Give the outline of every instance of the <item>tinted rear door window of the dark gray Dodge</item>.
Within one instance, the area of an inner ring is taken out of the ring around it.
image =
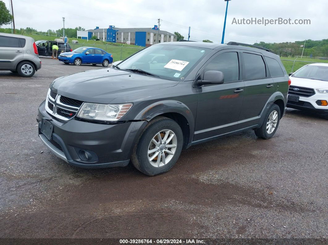
[[[265,64],[262,56],[243,53],[244,66],[243,77],[245,80],[263,79],[266,77]]]

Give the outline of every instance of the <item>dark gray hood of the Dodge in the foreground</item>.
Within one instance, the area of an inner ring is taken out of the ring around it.
[[[55,79],[50,88],[53,92],[69,98],[93,103],[110,103],[120,96],[168,88],[178,83],[178,81],[106,68]]]

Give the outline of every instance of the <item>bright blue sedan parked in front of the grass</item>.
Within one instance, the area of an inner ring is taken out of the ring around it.
[[[102,66],[108,66],[108,64],[113,63],[113,55],[100,48],[79,47],[72,52],[61,53],[58,60],[65,64],[102,64]]]

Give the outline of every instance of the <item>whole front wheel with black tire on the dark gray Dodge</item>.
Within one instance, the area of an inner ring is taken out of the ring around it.
[[[162,143],[164,144],[157,144],[156,146],[153,140],[160,142],[157,135],[160,135],[161,139],[166,138],[168,140],[171,137],[172,139],[166,142],[166,144],[163,141]],[[169,171],[178,160],[182,145],[183,134],[180,126],[174,120],[167,117],[155,117],[147,124],[133,148],[131,158],[133,166],[140,172],[149,176],[165,173]],[[166,146],[173,147],[166,148]],[[153,152],[148,154],[149,151]],[[164,154],[164,158],[162,154]],[[151,160],[151,158],[153,159]]]

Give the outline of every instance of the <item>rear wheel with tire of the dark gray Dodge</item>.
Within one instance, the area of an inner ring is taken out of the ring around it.
[[[262,126],[254,130],[255,135],[261,139],[272,138],[278,129],[279,122],[280,108],[278,105],[273,104],[265,114],[265,119],[262,123]]]

